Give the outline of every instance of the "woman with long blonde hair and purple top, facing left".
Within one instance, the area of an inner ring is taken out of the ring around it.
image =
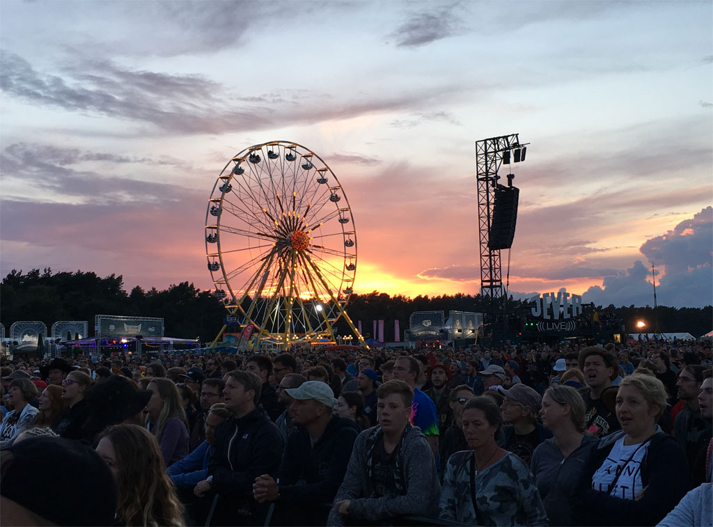
[[[165,377],[148,383],[151,398],[146,404],[148,430],[156,436],[166,466],[188,456],[188,421],[178,387]]]

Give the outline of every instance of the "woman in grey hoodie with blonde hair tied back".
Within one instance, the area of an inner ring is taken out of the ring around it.
[[[540,416],[553,438],[533,452],[530,469],[535,475],[550,526],[573,525],[572,492],[596,446],[584,434],[585,403],[572,387],[548,388],[542,398]]]

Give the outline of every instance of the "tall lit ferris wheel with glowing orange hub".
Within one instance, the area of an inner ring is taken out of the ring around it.
[[[228,161],[208,200],[205,254],[242,346],[334,340],[339,317],[366,345],[344,309],[356,275],[352,210],[312,150],[271,141]]]

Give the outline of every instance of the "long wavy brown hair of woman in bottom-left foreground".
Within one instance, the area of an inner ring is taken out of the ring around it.
[[[104,438],[111,441],[116,455],[116,511],[123,524],[182,526],[183,505],[166,475],[156,438],[135,424],[109,426],[100,436]]]

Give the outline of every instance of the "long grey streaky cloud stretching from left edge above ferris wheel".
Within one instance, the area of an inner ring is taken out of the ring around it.
[[[437,106],[461,86],[416,87],[399,93],[351,93],[346,101],[309,91],[280,91],[245,98],[200,75],[171,75],[120,68],[111,61],[83,61],[66,78],[39,73],[16,53],[3,51],[0,87],[34,106],[148,123],[171,134],[226,133],[314,124],[370,113]],[[90,69],[91,74],[83,73]],[[425,118],[443,118],[439,112]],[[147,133],[147,132],[144,132]]]

